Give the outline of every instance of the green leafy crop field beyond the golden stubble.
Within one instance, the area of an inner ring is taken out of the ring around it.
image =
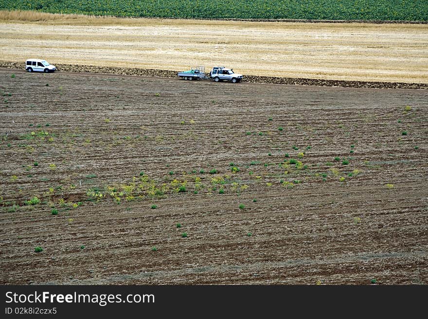
[[[0,0],[0,9],[118,17],[428,21],[427,0]]]

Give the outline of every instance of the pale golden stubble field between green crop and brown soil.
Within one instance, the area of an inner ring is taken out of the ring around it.
[[[113,18],[0,12],[0,60],[428,83],[428,25]]]

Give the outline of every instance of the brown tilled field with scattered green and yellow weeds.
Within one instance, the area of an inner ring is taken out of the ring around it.
[[[11,74],[1,284],[428,284],[426,90]]]

